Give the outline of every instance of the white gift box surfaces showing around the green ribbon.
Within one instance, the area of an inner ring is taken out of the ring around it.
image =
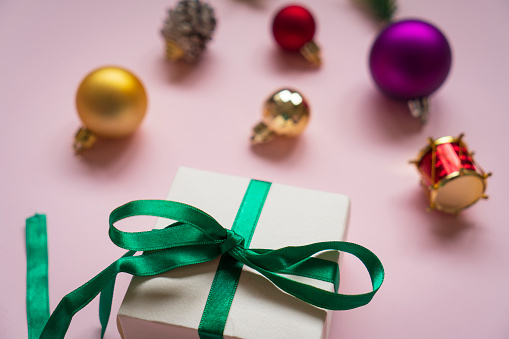
[[[180,168],[167,200],[195,206],[231,228],[250,179]],[[250,248],[276,249],[344,240],[349,198],[273,183]],[[159,219],[154,228],[164,228]],[[338,261],[337,252],[320,258]],[[219,259],[154,277],[133,277],[117,316],[124,339],[199,338],[198,327]],[[292,277],[328,291],[332,284]],[[242,269],[224,338],[327,338],[331,311],[281,291],[258,272]]]

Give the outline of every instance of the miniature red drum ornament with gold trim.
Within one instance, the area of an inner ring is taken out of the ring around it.
[[[462,139],[463,134],[429,138],[428,145],[411,161],[421,173],[430,209],[458,214],[488,198],[484,192],[491,173],[485,173],[473,160]]]

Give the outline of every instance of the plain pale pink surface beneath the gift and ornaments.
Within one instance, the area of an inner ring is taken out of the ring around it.
[[[509,2],[398,1],[397,18],[435,23],[453,49],[424,128],[374,88],[367,55],[378,28],[353,1],[301,0],[318,22],[319,70],[272,41],[285,1],[210,2],[219,24],[192,66],[163,58],[159,29],[174,1],[0,2],[0,337],[27,333],[26,217],[48,215],[53,309],[124,252],[108,239],[109,212],[164,198],[184,165],[350,195],[348,240],[379,255],[387,277],[368,306],[334,314],[331,338],[508,338]],[[103,65],[137,74],[149,110],[132,138],[78,158],[76,89]],[[296,140],[251,148],[263,101],[284,86],[308,98],[310,125]],[[457,218],[427,213],[408,160],[426,137],[460,132],[494,172],[490,199]],[[343,291],[367,291],[361,264],[343,264]],[[118,279],[113,314],[129,279]],[[99,338],[97,305],[75,316],[69,338]],[[114,321],[106,338],[119,338]]]

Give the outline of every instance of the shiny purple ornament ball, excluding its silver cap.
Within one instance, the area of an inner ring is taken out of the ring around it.
[[[403,100],[429,96],[451,69],[451,47],[438,28],[421,20],[388,25],[376,38],[369,67],[386,94]]]

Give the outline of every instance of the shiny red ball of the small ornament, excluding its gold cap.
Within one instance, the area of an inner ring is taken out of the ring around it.
[[[313,40],[315,19],[301,6],[287,6],[281,9],[272,22],[272,34],[282,49],[298,51]]]

